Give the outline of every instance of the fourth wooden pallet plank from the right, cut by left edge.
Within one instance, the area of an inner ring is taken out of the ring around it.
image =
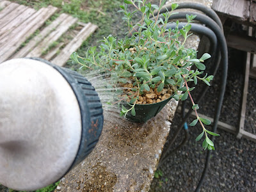
[[[12,22],[7,23],[5,26],[3,24],[0,25],[0,45],[1,42],[3,42],[4,37],[10,35],[10,33],[17,27],[19,27],[25,20],[27,20],[31,15],[33,15],[36,12],[33,8],[27,8],[25,12],[21,13],[20,15],[16,15],[15,12],[14,16],[15,17]],[[9,14],[10,15],[10,14]],[[8,15],[6,15],[8,16]]]

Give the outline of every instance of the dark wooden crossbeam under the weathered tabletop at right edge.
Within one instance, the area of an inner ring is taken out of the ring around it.
[[[227,38],[228,47],[241,51],[256,53],[256,38],[252,36],[230,33]]]

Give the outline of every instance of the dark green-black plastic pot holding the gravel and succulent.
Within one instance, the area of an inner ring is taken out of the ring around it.
[[[164,108],[164,106],[169,102],[170,99],[172,99],[173,95],[169,97],[166,100],[163,100],[161,102],[156,102],[154,104],[136,104],[135,105],[135,111],[136,115],[133,116],[131,114],[131,111],[127,113],[126,118],[128,120],[131,120],[132,122],[136,123],[145,123],[153,116],[156,116],[161,109]],[[131,108],[128,104],[124,104],[125,108]]]

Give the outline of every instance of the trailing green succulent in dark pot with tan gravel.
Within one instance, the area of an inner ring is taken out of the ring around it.
[[[143,121],[147,121],[148,117],[156,115],[172,97],[175,100],[186,100],[189,97],[196,113],[198,104],[193,102],[190,94],[195,87],[189,88],[188,82],[193,81],[196,85],[200,79],[210,85],[209,82],[213,78],[207,74],[200,76],[205,70],[204,61],[211,56],[205,53],[200,59],[196,59],[196,51],[184,47],[191,35],[189,30],[196,15],[187,15],[188,23],[182,29],[168,29],[168,18],[178,4],[172,4],[172,12],[162,13],[160,17],[159,11],[165,1],[160,1],[159,6],[146,1],[124,0],[124,4],[120,6],[128,27],[125,38],[118,40],[109,35],[100,41],[102,44],[99,51],[96,51],[97,47],[90,47],[84,58],[73,52],[70,59],[81,64],[81,68],[104,68],[110,74],[115,74],[115,83],[124,89],[124,92],[120,93],[120,101],[127,102],[122,104],[121,116],[131,119],[135,116],[136,121],[141,119],[142,114],[145,116]],[[136,10],[128,12],[127,4],[132,4]],[[134,24],[132,16],[136,12],[140,12],[141,20]],[[179,21],[177,26],[178,24]],[[193,65],[195,70],[191,69]],[[157,107],[152,112],[154,106]],[[205,129],[204,124],[211,124],[210,120],[200,118],[197,113],[196,116],[190,125],[195,126],[199,122],[203,129],[196,141],[205,135],[203,147],[214,150],[214,144],[207,134],[219,134]]]

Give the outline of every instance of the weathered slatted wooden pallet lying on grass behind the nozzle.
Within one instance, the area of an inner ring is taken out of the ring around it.
[[[0,0],[0,8],[0,63],[10,58],[41,57],[63,66],[70,54],[97,29],[94,24],[77,22],[76,18],[66,13],[46,26],[45,21],[58,10],[53,6],[36,11],[24,5]],[[72,39],[56,43],[74,24],[79,29],[72,31]],[[38,29],[38,35],[28,42],[29,36]],[[22,47],[24,42],[26,45]]]

